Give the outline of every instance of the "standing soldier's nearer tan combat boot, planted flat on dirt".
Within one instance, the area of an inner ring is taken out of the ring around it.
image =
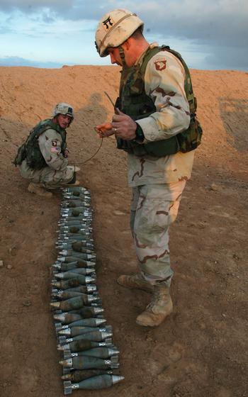
[[[162,284],[154,286],[151,303],[145,311],[137,316],[136,323],[144,327],[156,327],[172,312],[169,288]]]

